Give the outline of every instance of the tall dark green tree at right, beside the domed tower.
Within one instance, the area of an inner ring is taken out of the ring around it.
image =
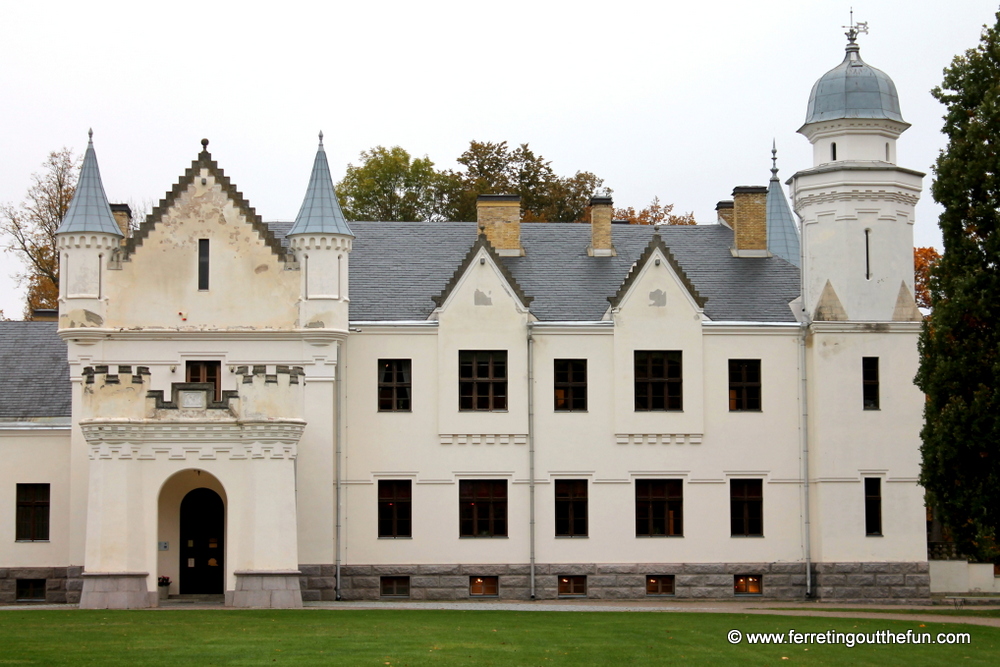
[[[920,481],[959,551],[1000,562],[1000,13],[932,91],[948,145],[934,199],[944,253],[916,383],[927,395]]]

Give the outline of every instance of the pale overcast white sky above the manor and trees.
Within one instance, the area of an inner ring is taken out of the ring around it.
[[[854,0],[861,55],[896,83],[913,127],[901,166],[926,171],[915,242],[940,247],[929,91],[975,46],[995,1]],[[749,3],[0,3],[0,202],[87,129],[108,198],[159,201],[209,150],[264,220],[291,220],[326,135],[334,180],[399,145],[438,167],[472,139],[528,142],[560,175],[592,171],[617,206],[654,196],[715,219],[736,185],[811,166],[796,130],[843,58],[850,0]],[[23,295],[0,256],[0,309]]]

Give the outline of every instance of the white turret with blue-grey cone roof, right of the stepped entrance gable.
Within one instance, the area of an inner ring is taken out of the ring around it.
[[[299,326],[346,333],[347,258],[354,233],[333,189],[322,132],[302,208],[287,236],[302,274]]]

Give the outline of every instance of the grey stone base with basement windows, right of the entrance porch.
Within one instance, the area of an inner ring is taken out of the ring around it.
[[[410,577],[411,600],[466,600],[470,576],[496,576],[501,600],[531,597],[530,567],[513,565],[342,565],[341,598],[377,600],[383,576]],[[305,601],[335,600],[336,568],[300,565],[299,585]],[[674,575],[676,599],[795,600],[806,597],[805,563],[574,563],[535,565],[535,598],[559,597],[559,575],[586,575],[587,597],[636,600],[646,597],[647,575]],[[813,597],[852,601],[927,601],[927,563],[814,563]],[[760,575],[760,595],[737,595],[733,578]]]

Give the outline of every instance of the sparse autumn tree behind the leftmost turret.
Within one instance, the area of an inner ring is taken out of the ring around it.
[[[5,249],[24,264],[24,271],[15,278],[28,288],[26,320],[36,308],[59,305],[56,230],[76,191],[80,164],[80,158],[68,148],[52,151],[42,163],[42,171],[32,174],[32,185],[20,206],[0,205],[0,232],[9,241]]]

